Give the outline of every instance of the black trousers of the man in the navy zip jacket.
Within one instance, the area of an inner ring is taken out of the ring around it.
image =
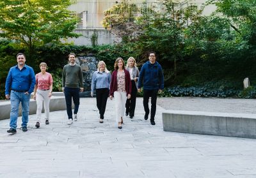
[[[148,108],[148,99],[151,97],[151,112],[150,112],[150,120],[155,119],[156,115],[156,98],[157,98],[158,90],[143,90],[143,106],[145,110],[145,114],[149,114]]]

